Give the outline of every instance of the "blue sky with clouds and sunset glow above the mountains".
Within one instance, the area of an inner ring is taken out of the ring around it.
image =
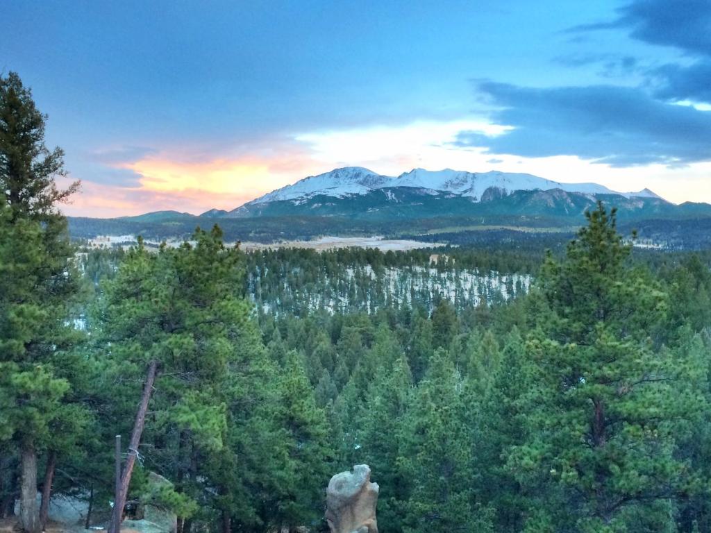
[[[341,166],[711,203],[710,0],[4,0],[68,215],[232,209]]]

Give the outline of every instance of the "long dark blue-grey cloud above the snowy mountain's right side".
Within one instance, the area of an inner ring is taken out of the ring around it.
[[[478,89],[498,107],[493,122],[513,129],[495,136],[461,131],[456,146],[524,157],[578,156],[620,167],[711,160],[711,113],[659,102],[641,89],[496,82],[481,82]]]

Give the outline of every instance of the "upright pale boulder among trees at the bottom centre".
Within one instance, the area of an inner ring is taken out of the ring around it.
[[[370,467],[355,465],[353,472],[331,478],[326,489],[326,521],[331,533],[378,533],[375,506],[378,483],[370,483]]]

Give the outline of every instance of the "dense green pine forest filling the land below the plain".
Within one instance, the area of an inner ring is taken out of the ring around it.
[[[179,533],[326,531],[329,478],[367,463],[384,533],[711,532],[708,254],[639,252],[602,203],[535,261],[245,254],[217,225],[82,251],[44,126],[0,77],[0,517],[22,531],[67,495],[112,533],[137,504]]]

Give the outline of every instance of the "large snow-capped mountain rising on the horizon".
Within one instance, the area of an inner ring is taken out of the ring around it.
[[[672,205],[648,189],[619,193],[597,183],[559,183],[524,173],[415,168],[392,177],[368,168],[346,167],[309,176],[232,211],[212,210],[203,216],[316,215],[385,220],[493,213],[579,215],[602,197],[616,198],[616,203],[634,210]]]

